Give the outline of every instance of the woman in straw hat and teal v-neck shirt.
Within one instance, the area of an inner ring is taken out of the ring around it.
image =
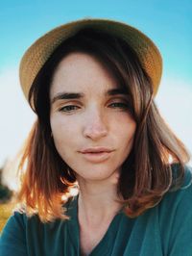
[[[192,255],[189,156],[156,109],[161,69],[151,39],[116,21],[68,23],[28,49],[25,209],[0,255]]]

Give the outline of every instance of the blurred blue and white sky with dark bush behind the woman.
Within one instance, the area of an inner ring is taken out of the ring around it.
[[[78,18],[123,21],[152,38],[163,57],[156,104],[192,151],[192,1],[2,0],[0,3],[0,202],[17,190],[16,153],[35,120],[19,88],[25,50],[50,29]]]

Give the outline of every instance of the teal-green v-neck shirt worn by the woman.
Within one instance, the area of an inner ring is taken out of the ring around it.
[[[91,256],[192,256],[192,177],[167,192],[156,207],[138,218],[119,212]],[[80,255],[77,197],[67,205],[69,220],[41,223],[37,216],[14,213],[5,226],[0,256]]]

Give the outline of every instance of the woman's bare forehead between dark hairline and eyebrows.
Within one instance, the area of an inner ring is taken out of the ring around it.
[[[105,94],[110,90],[110,94],[114,94],[117,89],[120,92],[117,79],[104,64],[89,54],[79,52],[70,53],[61,60],[53,76],[51,94],[62,91],[84,94],[90,90]]]

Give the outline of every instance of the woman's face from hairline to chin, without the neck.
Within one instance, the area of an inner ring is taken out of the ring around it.
[[[60,157],[77,179],[118,174],[136,128],[127,98],[94,57],[70,53],[60,62],[50,90],[51,129]]]

